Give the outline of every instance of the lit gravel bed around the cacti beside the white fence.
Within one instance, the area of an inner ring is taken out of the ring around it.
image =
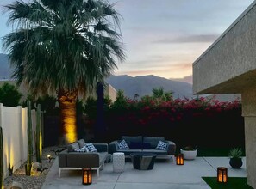
[[[34,163],[31,170],[31,176],[27,176],[25,174],[25,168],[24,168],[25,163],[24,163],[20,168],[18,168],[14,172],[14,174],[12,174],[11,176],[7,177],[4,180],[4,188],[7,188],[13,181],[21,183],[24,189],[41,188],[54,162],[54,159],[52,159],[51,162],[49,162],[47,155],[51,155],[54,158],[56,157],[55,151],[61,150],[61,149],[63,149],[63,147],[53,146],[53,147],[44,148],[42,150],[41,169],[44,169],[44,168],[47,168],[47,169],[43,170],[41,173],[41,171],[37,171],[37,168],[35,168],[35,163]],[[58,154],[58,152],[56,154]]]

